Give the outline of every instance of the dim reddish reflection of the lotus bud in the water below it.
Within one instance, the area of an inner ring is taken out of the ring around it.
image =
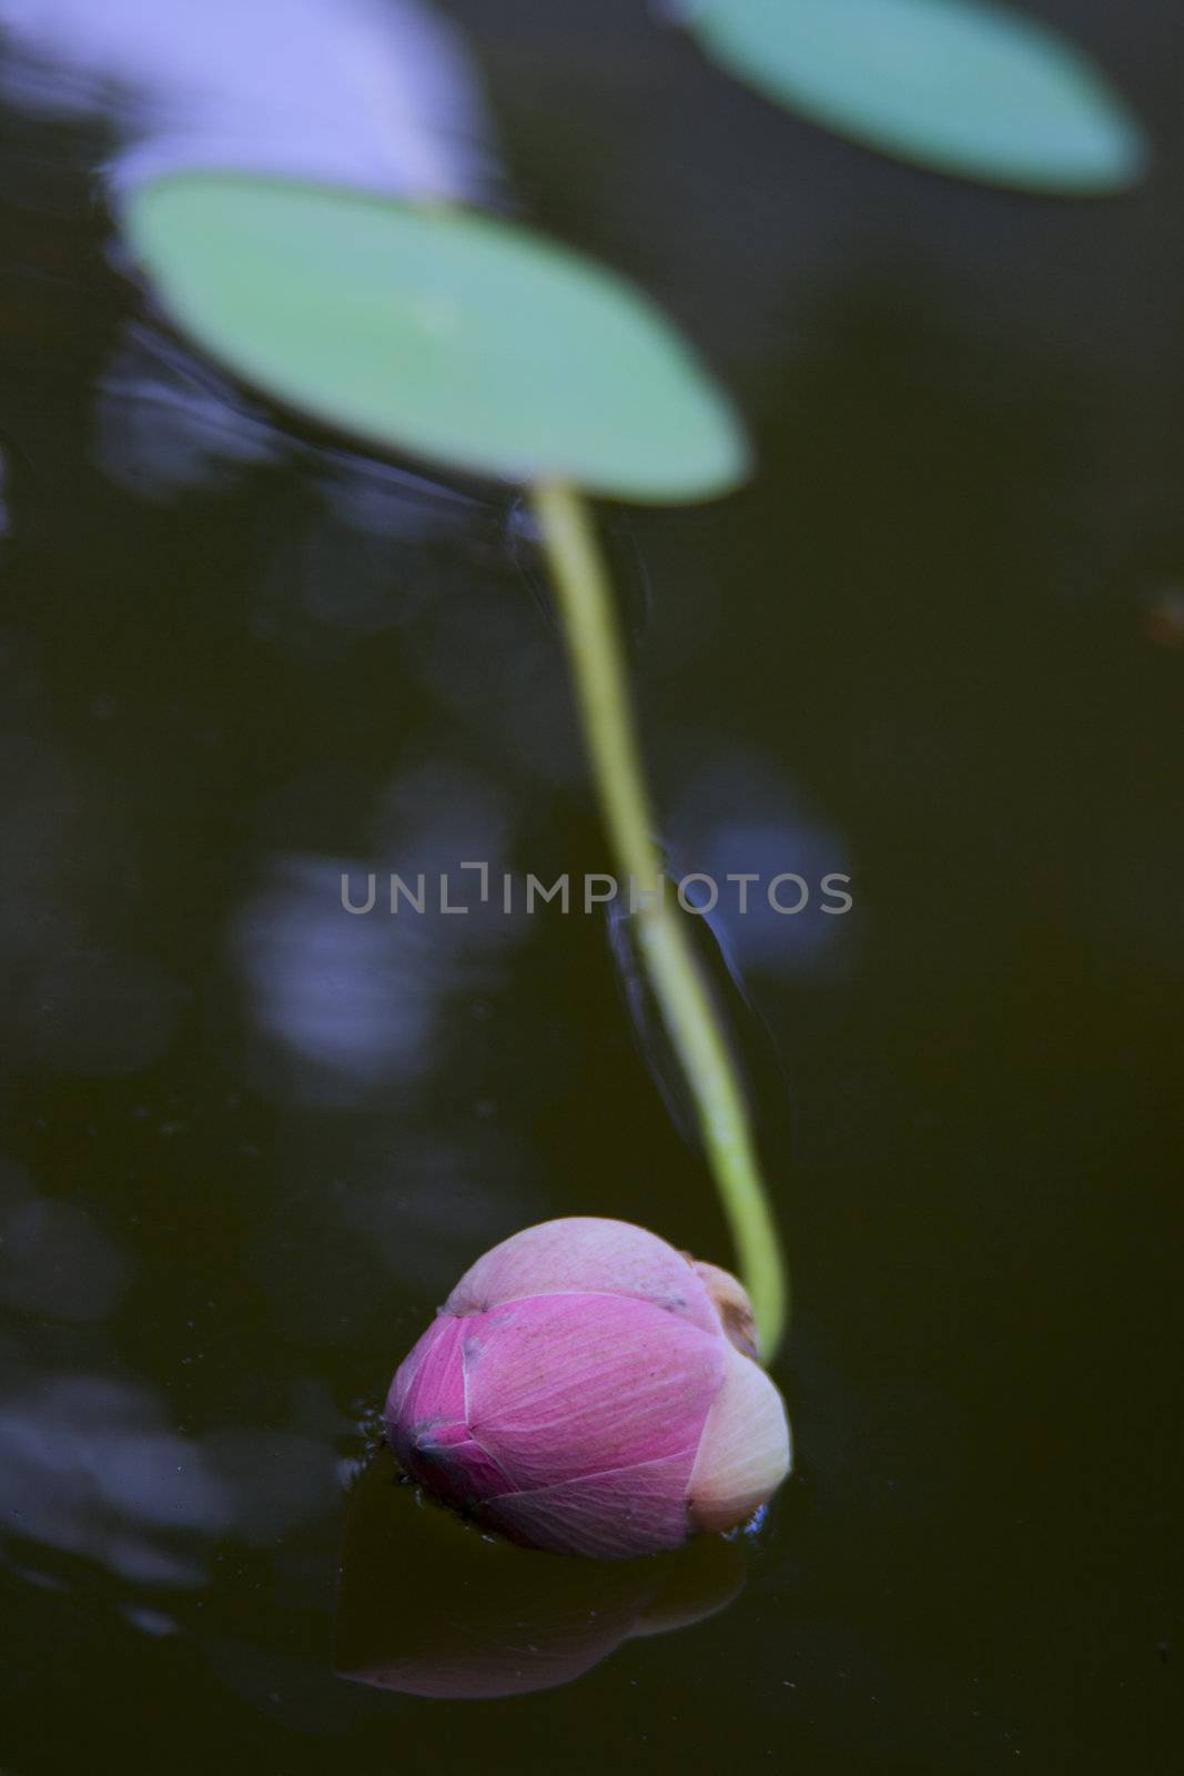
[[[742,1545],[721,1536],[632,1561],[513,1547],[399,1485],[380,1451],[346,1515],[335,1664],[412,1696],[525,1696],[717,1614],[742,1584]]]

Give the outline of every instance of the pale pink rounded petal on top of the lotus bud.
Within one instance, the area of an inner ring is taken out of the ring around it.
[[[680,1314],[705,1332],[715,1311],[691,1263],[666,1240],[630,1222],[570,1215],[502,1240],[465,1272],[447,1314],[481,1314],[525,1295],[630,1295]]]

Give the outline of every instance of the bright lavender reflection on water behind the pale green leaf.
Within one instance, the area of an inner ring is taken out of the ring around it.
[[[4,96],[98,112],[117,185],[250,167],[444,199],[488,195],[488,124],[426,0],[0,0]]]

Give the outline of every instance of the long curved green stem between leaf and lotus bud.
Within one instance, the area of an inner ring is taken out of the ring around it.
[[[753,1300],[769,1360],[786,1316],[777,1229],[765,1197],[744,1092],[678,913],[666,904],[662,858],[628,702],[612,588],[584,501],[549,481],[533,490],[600,808],[623,892],[637,908],[641,959],[691,1085],[703,1146]]]

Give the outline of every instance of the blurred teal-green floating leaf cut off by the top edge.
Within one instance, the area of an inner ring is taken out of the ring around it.
[[[1093,64],[989,0],[685,0],[683,16],[769,98],[923,167],[1099,194],[1147,163]]]

